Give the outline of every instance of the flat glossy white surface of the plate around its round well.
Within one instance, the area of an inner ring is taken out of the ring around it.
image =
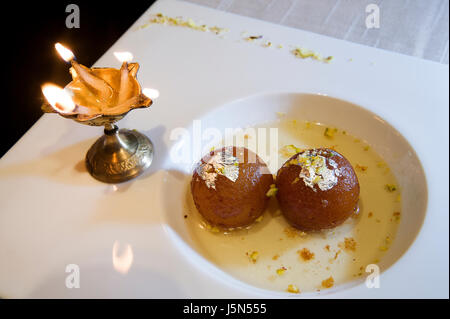
[[[190,17],[230,32],[221,38],[181,27],[138,29],[151,12]],[[242,31],[262,34],[284,48],[248,43]],[[289,52],[296,44],[333,55],[334,61],[297,59]],[[235,280],[195,253],[173,222],[180,212],[167,209],[168,198],[178,200],[177,189],[167,189],[173,179],[167,170],[175,165],[169,160],[173,129],[190,127],[194,119],[235,103],[243,106],[238,120],[219,118],[219,127],[258,123],[261,118],[250,116],[255,99],[272,97],[260,114],[269,117],[269,109],[286,97],[281,93],[290,92],[336,97],[386,120],[415,150],[427,180],[420,232],[413,241],[419,216],[408,228],[414,231],[409,237],[404,232],[406,239],[399,241],[403,250],[412,245],[383,272],[381,287],[349,285],[318,296],[448,298],[448,66],[172,0],[158,1],[96,65],[118,67],[112,53],[125,50],[141,64],[142,85],[157,88],[161,96],[150,110],[132,112],[119,126],[152,139],[154,163],[132,182],[97,182],[86,173],[83,159],[101,129],[43,116],[0,162],[0,296],[286,296]],[[249,96],[256,97],[245,100]],[[354,128],[364,134],[361,124]],[[366,130],[368,140],[374,132]],[[377,140],[379,152],[388,145],[383,154],[389,154],[402,140],[391,133],[385,144]],[[418,176],[408,174],[406,179]],[[133,251],[126,275],[112,264],[116,241]],[[79,289],[65,286],[68,264],[79,266]]]

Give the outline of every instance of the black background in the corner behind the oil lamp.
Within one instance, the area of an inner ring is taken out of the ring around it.
[[[67,44],[90,66],[154,1],[5,1],[2,13],[2,101],[0,157],[39,119],[41,85],[65,86],[68,66],[54,44]],[[66,28],[66,6],[80,8],[80,28]]]

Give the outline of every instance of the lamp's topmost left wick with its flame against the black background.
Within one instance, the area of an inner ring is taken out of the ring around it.
[[[72,51],[64,47],[60,43],[55,44],[55,49],[58,51],[61,58],[64,61],[69,62],[72,65],[72,75],[74,78],[79,77],[81,82],[92,92],[95,96],[99,98],[99,100],[106,105],[109,104],[109,101],[113,97],[114,90],[112,87],[106,83],[105,80],[97,77],[92,71],[85,67],[84,65],[79,64],[75,60],[75,56]],[[75,74],[74,74],[75,73]]]

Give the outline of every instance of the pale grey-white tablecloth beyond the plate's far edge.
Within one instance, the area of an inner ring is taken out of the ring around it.
[[[448,64],[447,0],[184,0],[218,10]],[[368,29],[366,6],[379,7]]]

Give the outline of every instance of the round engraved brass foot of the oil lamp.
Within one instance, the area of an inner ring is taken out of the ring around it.
[[[86,154],[86,168],[104,183],[121,183],[140,175],[153,160],[153,144],[136,130],[119,130],[116,125],[105,127]]]

